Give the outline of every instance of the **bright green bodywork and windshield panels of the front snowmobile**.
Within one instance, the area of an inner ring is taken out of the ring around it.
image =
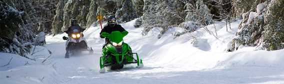
[[[119,43],[123,41],[123,37],[128,34],[127,31],[119,32],[119,31],[113,31],[111,34],[102,32],[101,36],[109,38],[110,42]],[[136,59],[133,58],[133,53],[131,48],[128,44],[122,43],[121,45],[121,53],[118,53],[116,51],[116,48],[111,44],[107,44],[105,47],[102,48],[102,57],[100,57],[100,69],[108,65],[124,65],[124,64],[130,64],[130,63],[142,63],[142,60],[139,59],[137,53]],[[108,55],[108,56],[107,56]],[[114,62],[113,62],[114,61]]]

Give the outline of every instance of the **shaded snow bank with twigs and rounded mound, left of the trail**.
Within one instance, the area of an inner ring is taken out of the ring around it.
[[[33,49],[33,48],[32,48]],[[49,61],[49,52],[42,46],[36,46],[27,57],[0,53],[0,82],[1,84],[57,84],[61,82],[58,74]]]

